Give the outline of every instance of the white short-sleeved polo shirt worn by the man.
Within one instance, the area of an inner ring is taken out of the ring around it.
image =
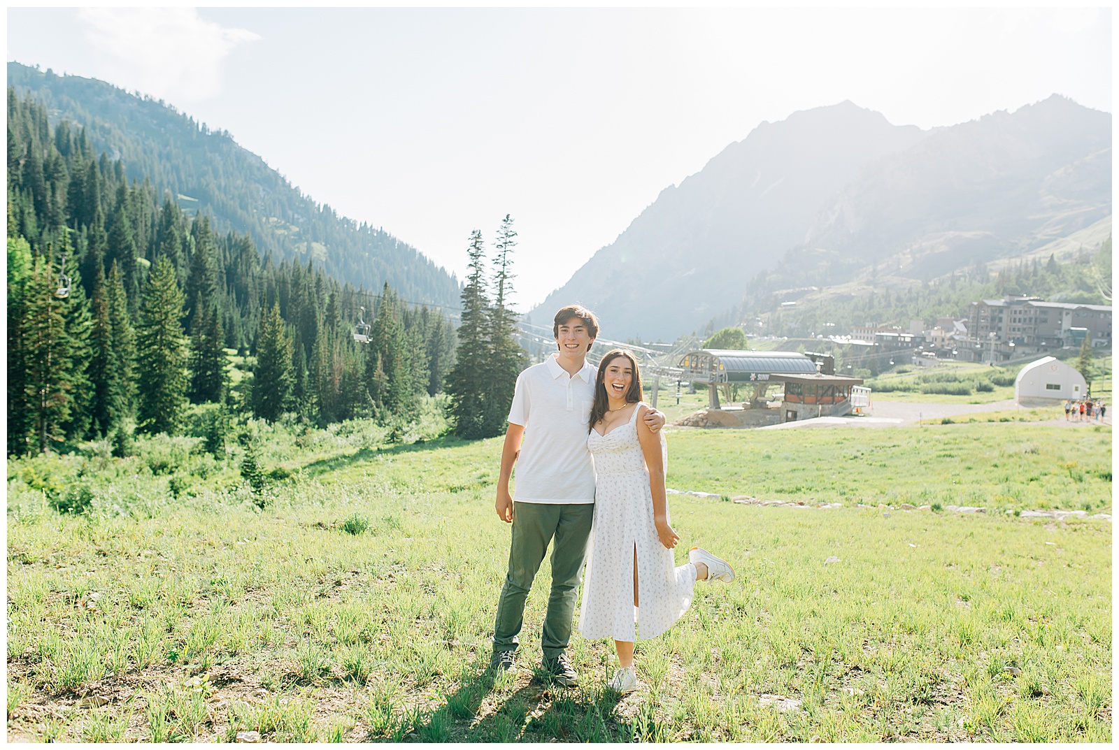
[[[598,368],[584,362],[568,376],[557,357],[517,376],[509,423],[525,428],[514,474],[513,499],[518,503],[594,502],[586,435]]]

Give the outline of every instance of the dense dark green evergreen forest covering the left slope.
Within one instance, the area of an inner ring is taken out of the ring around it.
[[[406,418],[453,361],[440,311],[262,257],[11,88],[7,239],[9,454],[123,445],[133,425],[175,434],[188,404],[320,425]],[[361,307],[367,342],[352,335]],[[255,357],[236,392],[228,350]]]

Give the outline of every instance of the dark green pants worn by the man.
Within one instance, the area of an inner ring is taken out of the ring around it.
[[[546,658],[556,657],[567,648],[593,520],[594,503],[514,503],[509,572],[501,587],[497,621],[493,623],[495,652],[516,651],[517,635],[525,618],[525,599],[553,537],[552,592],[540,647]]]

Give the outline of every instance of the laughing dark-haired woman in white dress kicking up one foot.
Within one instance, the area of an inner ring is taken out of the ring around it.
[[[734,580],[725,560],[698,547],[690,562],[674,567],[680,538],[665,496],[667,449],[641,419],[648,409],[637,358],[623,349],[609,352],[599,364],[586,437],[598,478],[579,629],[585,638],[614,639],[620,668],[609,687],[619,693],[640,686],[637,627],[643,639],[653,638],[687,610],[697,580]]]

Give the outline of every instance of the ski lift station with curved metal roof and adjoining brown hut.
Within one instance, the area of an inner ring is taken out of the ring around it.
[[[831,370],[830,357],[808,357],[799,352],[762,352],[730,349],[697,349],[679,361],[680,380],[707,386],[711,409],[718,409],[718,387],[723,383],[758,386],[758,396],[769,385],[784,386],[784,421],[850,412],[850,389],[859,378],[821,374]]]

